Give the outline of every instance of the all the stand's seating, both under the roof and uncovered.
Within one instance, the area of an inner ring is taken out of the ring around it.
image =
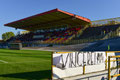
[[[30,32],[27,34],[18,35],[16,37],[12,37],[8,41],[21,41],[21,42],[29,42],[29,43],[43,43],[43,44],[50,44],[50,43],[64,43],[64,42],[72,42],[78,41],[84,42],[82,40],[88,41],[89,39],[102,39],[110,32],[114,32],[119,25],[106,25],[106,26],[99,26],[99,27],[88,27],[86,28],[82,34],[77,34],[81,31],[81,28],[72,27],[72,28],[60,28],[60,29],[53,29],[53,30],[37,30],[34,32]],[[74,36],[75,35],[75,36]],[[73,37],[74,36],[74,37]],[[101,37],[102,36],[102,37]],[[92,40],[91,40],[92,41]]]

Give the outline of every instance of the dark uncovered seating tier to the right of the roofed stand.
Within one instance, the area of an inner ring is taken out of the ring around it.
[[[88,39],[91,37],[104,36],[109,32],[115,31],[119,25],[99,26],[99,27],[88,27],[83,31],[81,35],[77,35],[73,40]]]

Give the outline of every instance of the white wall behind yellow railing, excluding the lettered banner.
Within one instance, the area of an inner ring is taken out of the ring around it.
[[[93,53],[97,53],[97,52],[93,52]],[[98,52],[98,53],[100,53],[100,52]],[[102,53],[104,53],[106,55],[106,52],[102,52]],[[53,57],[57,57],[57,56],[60,56],[60,55],[61,54],[55,53],[55,54],[53,54]],[[114,52],[107,53],[106,59],[108,59],[108,56],[115,56],[115,55],[116,54]],[[53,58],[53,60],[54,60],[54,58]],[[57,60],[55,60],[55,61],[57,61]],[[85,66],[85,75],[87,73],[104,71],[105,66],[106,66],[105,62],[100,63],[100,64],[96,64],[96,65],[86,65]],[[116,62],[111,62],[111,67],[116,67]],[[106,74],[104,76],[100,76],[100,78],[106,77]],[[73,67],[73,68],[66,68],[66,69],[63,69],[63,70],[60,69],[60,68],[57,68],[57,67],[53,67],[53,78],[54,79],[71,77],[71,76],[76,76],[76,75],[83,75],[83,66],[81,66],[81,67]],[[90,76],[92,76],[92,75],[90,75]],[[84,80],[84,79],[80,79],[80,80]],[[85,80],[99,80],[99,79],[92,78],[92,79],[85,79]],[[102,80],[102,79],[100,79],[100,80]]]

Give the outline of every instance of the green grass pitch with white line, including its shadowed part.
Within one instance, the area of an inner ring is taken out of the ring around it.
[[[51,53],[37,50],[0,49],[0,80],[48,80]]]

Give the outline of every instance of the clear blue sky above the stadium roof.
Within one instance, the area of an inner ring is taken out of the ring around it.
[[[55,8],[91,21],[120,17],[120,0],[0,0],[0,39],[2,33],[20,31],[4,24]]]

